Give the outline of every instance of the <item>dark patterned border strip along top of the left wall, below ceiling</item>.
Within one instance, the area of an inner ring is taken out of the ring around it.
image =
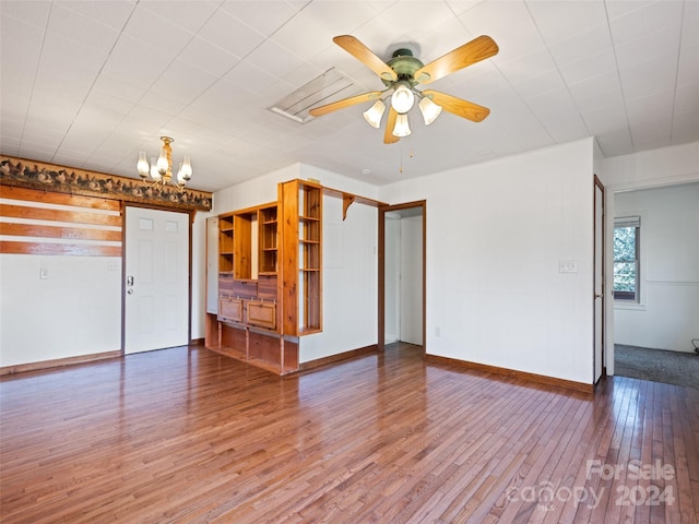
[[[212,193],[162,186],[145,186],[140,179],[44,164],[0,155],[0,184],[80,194],[121,202],[135,202],[178,210],[211,211]]]

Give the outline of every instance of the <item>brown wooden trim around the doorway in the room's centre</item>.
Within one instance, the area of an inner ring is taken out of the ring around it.
[[[383,350],[386,345],[386,214],[395,211],[419,209],[423,216],[423,357],[427,350],[426,331],[426,274],[427,274],[427,201],[419,200],[403,204],[384,205],[379,207],[379,252],[378,252],[378,349]]]

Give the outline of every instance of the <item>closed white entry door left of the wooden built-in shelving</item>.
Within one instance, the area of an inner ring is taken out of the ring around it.
[[[189,343],[189,215],[126,209],[125,352]]]

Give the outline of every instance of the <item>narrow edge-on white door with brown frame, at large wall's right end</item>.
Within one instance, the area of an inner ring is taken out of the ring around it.
[[[594,377],[604,374],[604,186],[594,179]]]

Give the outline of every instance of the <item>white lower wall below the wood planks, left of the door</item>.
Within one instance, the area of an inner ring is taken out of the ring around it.
[[[121,349],[120,258],[3,253],[0,288],[0,366]]]

